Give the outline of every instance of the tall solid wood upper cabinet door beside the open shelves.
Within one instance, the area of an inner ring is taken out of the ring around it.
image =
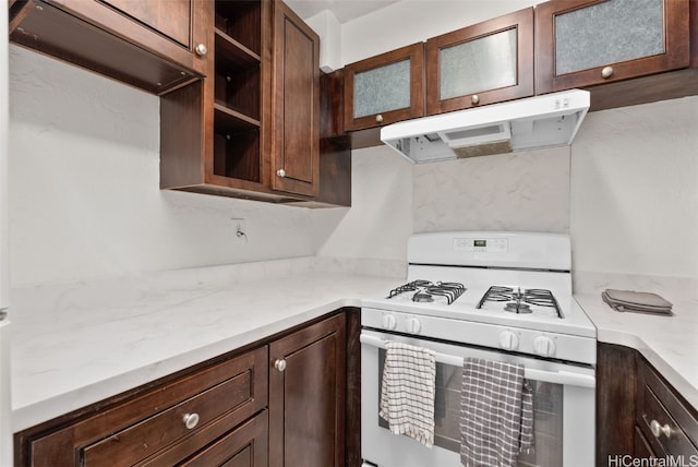
[[[320,178],[320,37],[274,2],[272,188],[315,196]]]

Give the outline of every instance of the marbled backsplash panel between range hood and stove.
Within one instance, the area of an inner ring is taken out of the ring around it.
[[[414,166],[414,231],[569,231],[569,147]]]

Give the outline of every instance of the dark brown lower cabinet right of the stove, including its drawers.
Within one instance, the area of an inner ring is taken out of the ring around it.
[[[597,466],[696,465],[698,410],[637,350],[599,343],[597,361]]]

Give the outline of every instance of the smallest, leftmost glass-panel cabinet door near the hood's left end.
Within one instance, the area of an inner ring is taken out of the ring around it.
[[[345,131],[424,115],[424,46],[402,47],[345,67]]]

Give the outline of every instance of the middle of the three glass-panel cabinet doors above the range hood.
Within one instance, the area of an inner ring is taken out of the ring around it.
[[[426,40],[426,113],[532,95],[532,8]]]

